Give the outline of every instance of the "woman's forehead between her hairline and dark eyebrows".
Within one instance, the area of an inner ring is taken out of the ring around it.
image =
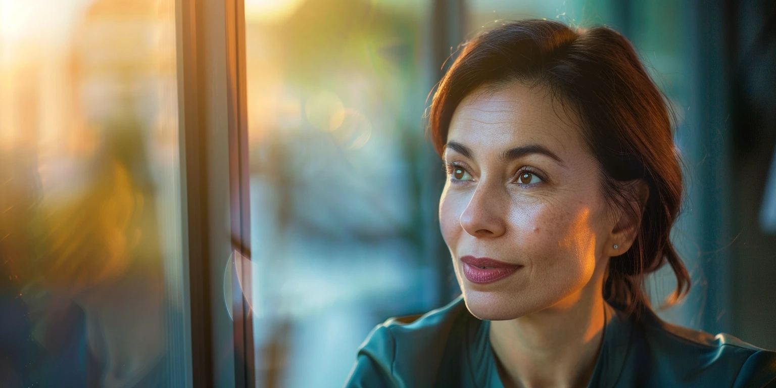
[[[583,148],[578,123],[576,113],[546,88],[516,84],[494,92],[481,87],[456,108],[447,140],[466,144],[475,154],[524,144],[569,154]]]

